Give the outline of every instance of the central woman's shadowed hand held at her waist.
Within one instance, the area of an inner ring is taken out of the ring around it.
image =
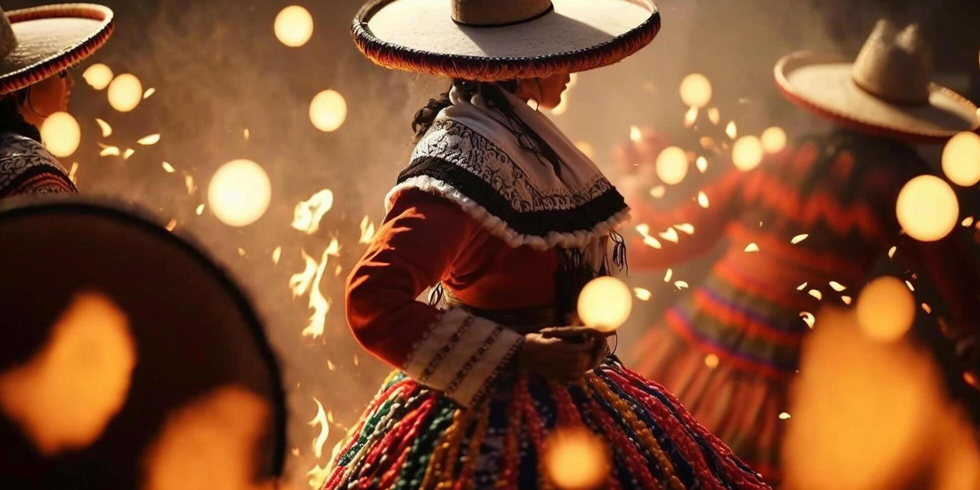
[[[520,368],[563,383],[577,381],[596,365],[609,334],[585,326],[557,326],[528,333],[517,354]]]

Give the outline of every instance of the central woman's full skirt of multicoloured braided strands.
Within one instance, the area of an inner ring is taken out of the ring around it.
[[[768,488],[657,383],[613,358],[571,385],[521,373],[469,409],[393,372],[334,451],[323,488],[554,488],[549,436],[609,450],[602,488]]]

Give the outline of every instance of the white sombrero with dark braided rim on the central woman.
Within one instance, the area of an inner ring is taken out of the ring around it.
[[[651,0],[369,0],[352,35],[385,68],[497,81],[611,65],[660,26]]]

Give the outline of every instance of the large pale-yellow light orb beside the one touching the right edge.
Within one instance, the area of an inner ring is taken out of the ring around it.
[[[935,175],[919,175],[902,187],[895,213],[908,236],[931,242],[953,231],[959,217],[959,203],[953,187],[945,180]]]

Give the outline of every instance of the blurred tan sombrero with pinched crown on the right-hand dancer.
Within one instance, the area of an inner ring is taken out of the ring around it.
[[[917,25],[879,21],[854,63],[796,52],[779,60],[775,77],[791,101],[864,132],[942,142],[980,127],[975,105],[931,81],[932,53]]]

